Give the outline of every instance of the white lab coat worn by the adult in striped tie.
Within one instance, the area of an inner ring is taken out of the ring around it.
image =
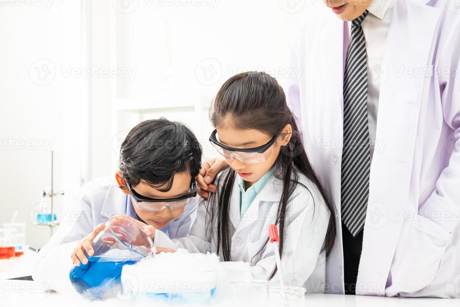
[[[349,27],[325,6],[306,16],[291,52],[288,99],[340,226],[343,70]],[[460,9],[397,0],[383,63],[377,142],[357,294],[460,297]],[[383,66],[385,68],[385,66]],[[451,70],[444,71],[443,69]],[[421,74],[420,74],[421,73]],[[329,293],[343,293],[341,230]]]

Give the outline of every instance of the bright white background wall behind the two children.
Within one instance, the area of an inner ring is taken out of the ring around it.
[[[0,0],[0,223],[18,210],[27,242],[42,246],[49,229],[32,222],[50,150],[54,188],[66,192],[55,202],[62,219],[82,183],[114,174],[122,139],[144,119],[187,123],[212,156],[207,116],[220,85],[247,70],[284,84],[314,1]]]

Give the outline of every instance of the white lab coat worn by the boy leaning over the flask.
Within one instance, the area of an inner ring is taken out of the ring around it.
[[[197,206],[198,197],[190,198],[184,212],[169,224],[166,235],[187,235],[191,215]],[[32,278],[54,284],[67,283],[73,265],[70,254],[75,244],[91,233],[95,226],[107,222],[112,214],[127,214],[137,218],[131,198],[121,191],[113,176],[92,180],[81,187],[71,206],[62,209],[61,226],[40,249],[33,266]]]

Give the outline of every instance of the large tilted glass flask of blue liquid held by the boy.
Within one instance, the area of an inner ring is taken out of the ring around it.
[[[70,270],[70,281],[77,292],[90,299],[112,296],[110,290],[121,281],[121,268],[152,253],[152,239],[139,223],[124,214],[110,216],[91,243],[94,254],[88,256],[85,251],[88,262]]]

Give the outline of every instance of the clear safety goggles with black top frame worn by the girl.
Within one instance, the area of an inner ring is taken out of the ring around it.
[[[216,136],[217,129],[211,133],[209,141],[226,159],[233,161],[233,158],[236,158],[246,164],[255,164],[268,160],[273,152],[273,144],[275,144],[276,139],[280,136],[280,134],[281,131],[271,138],[267,144],[254,148],[233,148],[220,143]]]

